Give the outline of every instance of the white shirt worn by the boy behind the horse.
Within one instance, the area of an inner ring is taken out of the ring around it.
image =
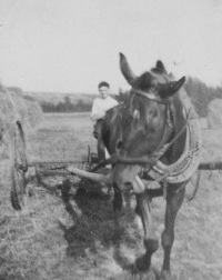
[[[101,119],[101,116],[104,117],[105,112],[110,110],[111,108],[118,106],[118,101],[108,96],[105,99],[102,98],[95,98],[92,103],[92,112],[91,112],[91,119],[93,121],[97,121],[98,119]]]

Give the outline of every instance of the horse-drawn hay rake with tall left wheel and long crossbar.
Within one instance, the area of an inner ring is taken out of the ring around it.
[[[68,176],[79,176],[91,179],[91,171],[99,164],[100,160],[95,152],[92,152],[90,147],[85,152],[85,157],[82,159],[40,159],[40,160],[28,160],[26,152],[26,140],[22,126],[19,121],[16,122],[13,128],[13,143],[12,143],[12,161],[11,161],[11,203],[16,210],[21,210],[24,206],[26,187],[28,183],[28,170],[29,168],[34,169],[34,176],[37,178],[38,184],[42,183],[42,178],[46,177],[68,177]],[[71,167],[71,169],[70,169]],[[222,159],[215,161],[204,161],[200,162],[198,168],[198,176],[193,184],[199,184],[200,172],[202,170],[222,170]],[[89,172],[91,173],[88,177]],[[109,167],[99,168],[93,180],[102,181],[108,183],[104,174],[110,172]]]

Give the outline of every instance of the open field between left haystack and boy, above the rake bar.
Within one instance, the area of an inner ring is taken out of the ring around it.
[[[95,148],[89,113],[46,113],[28,140],[28,154],[31,159],[81,159],[88,144]]]

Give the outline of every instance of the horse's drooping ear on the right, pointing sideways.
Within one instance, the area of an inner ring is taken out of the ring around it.
[[[179,81],[159,83],[159,96],[161,98],[168,98],[173,96],[175,92],[180,90],[180,88],[184,84],[185,77],[182,77]]]

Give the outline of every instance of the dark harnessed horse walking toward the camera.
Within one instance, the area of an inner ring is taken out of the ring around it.
[[[98,169],[111,163],[111,174],[80,174],[112,183],[117,226],[122,209],[122,193],[133,190],[135,212],[141,217],[144,229],[145,253],[135,260],[139,271],[150,269],[151,257],[159,247],[151,201],[160,196],[165,198],[161,279],[169,280],[175,217],[183,202],[185,186],[200,163],[198,116],[183,89],[185,78],[173,81],[162,61],[159,60],[154,68],[138,77],[127,58],[120,53],[120,69],[131,90],[123,103],[105,114],[102,139],[111,157],[95,167]],[[69,171],[78,173],[73,168]],[[153,180],[159,182],[158,189],[149,188]]]

